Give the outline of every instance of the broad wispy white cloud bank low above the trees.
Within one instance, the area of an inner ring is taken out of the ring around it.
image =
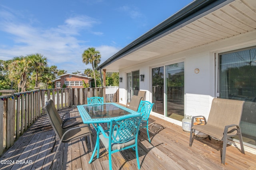
[[[1,19],[7,17],[5,19]],[[9,17],[9,19],[8,19]],[[29,19],[28,19],[29,20]],[[9,60],[13,57],[41,53],[48,59],[48,65],[57,65],[59,69],[80,70],[90,68],[82,63],[84,44],[89,40],[79,40],[76,35],[82,30],[88,34],[102,35],[102,32],[90,31],[95,24],[100,24],[88,16],[75,16],[64,21],[63,25],[52,28],[42,28],[23,23],[7,11],[0,12],[0,36],[8,36],[8,41],[15,45],[6,45],[0,40],[0,60]],[[2,33],[1,33],[2,31]],[[114,55],[120,48],[102,45],[96,47],[101,52],[102,62]],[[70,71],[69,71],[70,70]]]

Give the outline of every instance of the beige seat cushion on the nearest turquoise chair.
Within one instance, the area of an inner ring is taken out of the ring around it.
[[[108,132],[105,134],[106,134],[106,136],[108,136]],[[114,135],[116,135],[116,131],[114,131]],[[108,150],[108,148],[109,148],[108,147],[108,144],[109,144],[108,138],[104,137],[103,134],[100,134],[99,137],[100,137],[100,140],[102,141],[103,145],[105,146],[105,148]],[[134,144],[135,144],[135,139],[130,140],[125,143],[113,143],[112,150],[117,150],[117,149],[119,150],[121,148],[128,147],[128,146],[134,145]]]

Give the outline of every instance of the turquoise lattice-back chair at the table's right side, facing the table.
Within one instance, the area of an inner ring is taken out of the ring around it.
[[[138,112],[142,115],[142,121],[140,122],[140,128],[147,128],[148,133],[148,119],[150,115],[150,111],[153,107],[154,103],[150,103],[148,101],[140,101],[140,106],[138,108]],[[148,133],[148,141],[151,143]]]

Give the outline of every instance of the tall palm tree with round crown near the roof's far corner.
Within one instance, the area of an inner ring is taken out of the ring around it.
[[[95,76],[94,68],[96,68],[100,63],[100,58],[101,58],[100,51],[96,51],[94,47],[89,47],[88,49],[84,50],[84,53],[82,54],[83,63],[85,63],[86,65],[89,63],[92,64],[95,87],[97,87],[97,84],[96,84],[96,76]]]

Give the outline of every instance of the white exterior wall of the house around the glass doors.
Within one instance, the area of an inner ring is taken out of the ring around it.
[[[140,82],[140,90],[146,90],[146,100],[152,102],[152,78],[151,69],[168,64],[184,61],[184,109],[185,115],[204,115],[208,118],[212,99],[218,97],[218,53],[252,47],[256,45],[256,31],[240,34],[235,37],[223,39],[202,47],[190,49],[182,53],[166,55],[158,59],[153,59],[143,64],[137,64],[129,68],[120,70],[119,75],[123,78],[120,83],[120,103],[126,104],[127,91],[126,74],[131,71],[140,70],[144,74],[144,82]],[[200,71],[194,72],[195,68]],[[182,122],[164,117],[158,113],[152,113],[162,117],[172,123],[182,125]]]

